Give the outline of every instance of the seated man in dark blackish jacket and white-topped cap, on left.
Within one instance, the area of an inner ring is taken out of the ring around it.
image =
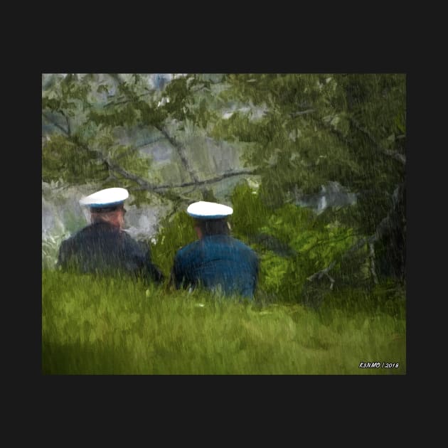
[[[106,188],[80,200],[90,208],[92,223],[60,245],[62,270],[117,274],[122,272],[144,282],[161,282],[163,275],[151,262],[149,246],[124,230],[124,188]]]

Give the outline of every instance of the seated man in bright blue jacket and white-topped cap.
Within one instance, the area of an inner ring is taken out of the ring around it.
[[[233,209],[199,201],[188,206],[187,213],[195,219],[199,239],[176,253],[171,282],[177,289],[201,285],[252,299],[260,262],[250,247],[229,235],[227,217]]]

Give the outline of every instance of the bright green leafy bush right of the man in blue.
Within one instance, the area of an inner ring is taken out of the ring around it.
[[[267,296],[302,302],[307,277],[340,260],[357,240],[353,228],[337,220],[326,223],[307,208],[284,204],[266,213],[262,196],[247,186],[235,188],[232,198],[235,210],[241,210],[240,215],[246,216],[245,210],[265,209],[263,215],[255,212],[259,218],[251,219],[252,227],[245,226],[236,212],[232,223],[235,235],[252,243],[261,254],[260,289]],[[334,274],[340,270],[338,263]]]

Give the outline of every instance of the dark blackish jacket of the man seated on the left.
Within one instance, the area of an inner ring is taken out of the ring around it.
[[[163,279],[160,270],[151,262],[149,246],[109,223],[87,225],[64,240],[59,249],[58,265],[63,270],[79,272],[124,272],[148,283]]]

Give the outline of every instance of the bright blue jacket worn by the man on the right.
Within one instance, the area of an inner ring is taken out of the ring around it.
[[[224,294],[252,298],[257,286],[259,259],[240,240],[228,235],[209,235],[178,250],[172,277],[176,288],[220,288]]]

